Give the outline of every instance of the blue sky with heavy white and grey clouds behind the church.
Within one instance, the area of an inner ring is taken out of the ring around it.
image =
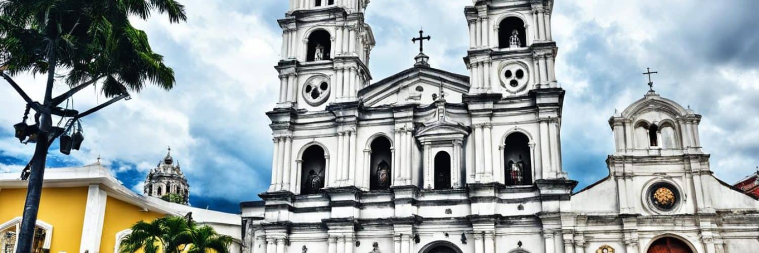
[[[141,193],[147,171],[167,146],[191,185],[191,204],[238,211],[269,185],[271,136],[264,112],[279,87],[285,0],[180,0],[185,24],[154,15],[134,21],[176,73],[177,86],[133,95],[84,120],[83,150],[51,152],[48,165],[102,162]],[[471,0],[373,0],[367,22],[377,45],[370,69],[375,81],[411,67],[417,49],[409,41],[424,27],[433,40],[425,51],[434,68],[468,74],[463,15]],[[578,190],[608,174],[613,152],[606,122],[647,90],[641,73],[650,67],[656,90],[704,116],[701,142],[711,168],[726,182],[759,165],[759,16],[754,0],[556,1],[553,38],[559,45],[556,76],[567,90],[562,119],[563,167]],[[405,60],[404,60],[405,59]],[[43,82],[18,76],[34,98]],[[63,92],[65,87],[56,88]],[[95,89],[74,99],[85,109],[106,99]],[[12,125],[24,103],[0,84],[0,172],[18,172],[33,153],[19,144]],[[57,148],[54,147],[54,148]]]

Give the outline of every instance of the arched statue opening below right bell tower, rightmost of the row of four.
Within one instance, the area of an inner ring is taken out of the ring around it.
[[[506,185],[532,184],[530,139],[519,132],[509,134],[503,146]]]

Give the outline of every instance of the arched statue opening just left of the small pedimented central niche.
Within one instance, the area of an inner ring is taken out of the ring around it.
[[[390,188],[392,180],[392,154],[390,153],[390,140],[378,137],[370,145],[370,190],[386,190]]]

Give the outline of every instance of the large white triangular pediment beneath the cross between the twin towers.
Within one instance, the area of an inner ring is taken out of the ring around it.
[[[433,94],[442,85],[446,100],[461,103],[469,91],[469,77],[436,68],[414,67],[393,74],[358,91],[364,106],[388,106],[405,103],[433,103]]]

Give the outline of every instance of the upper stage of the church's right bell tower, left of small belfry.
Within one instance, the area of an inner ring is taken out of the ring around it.
[[[473,0],[465,9],[470,94],[520,96],[558,87],[551,37],[553,0]]]

